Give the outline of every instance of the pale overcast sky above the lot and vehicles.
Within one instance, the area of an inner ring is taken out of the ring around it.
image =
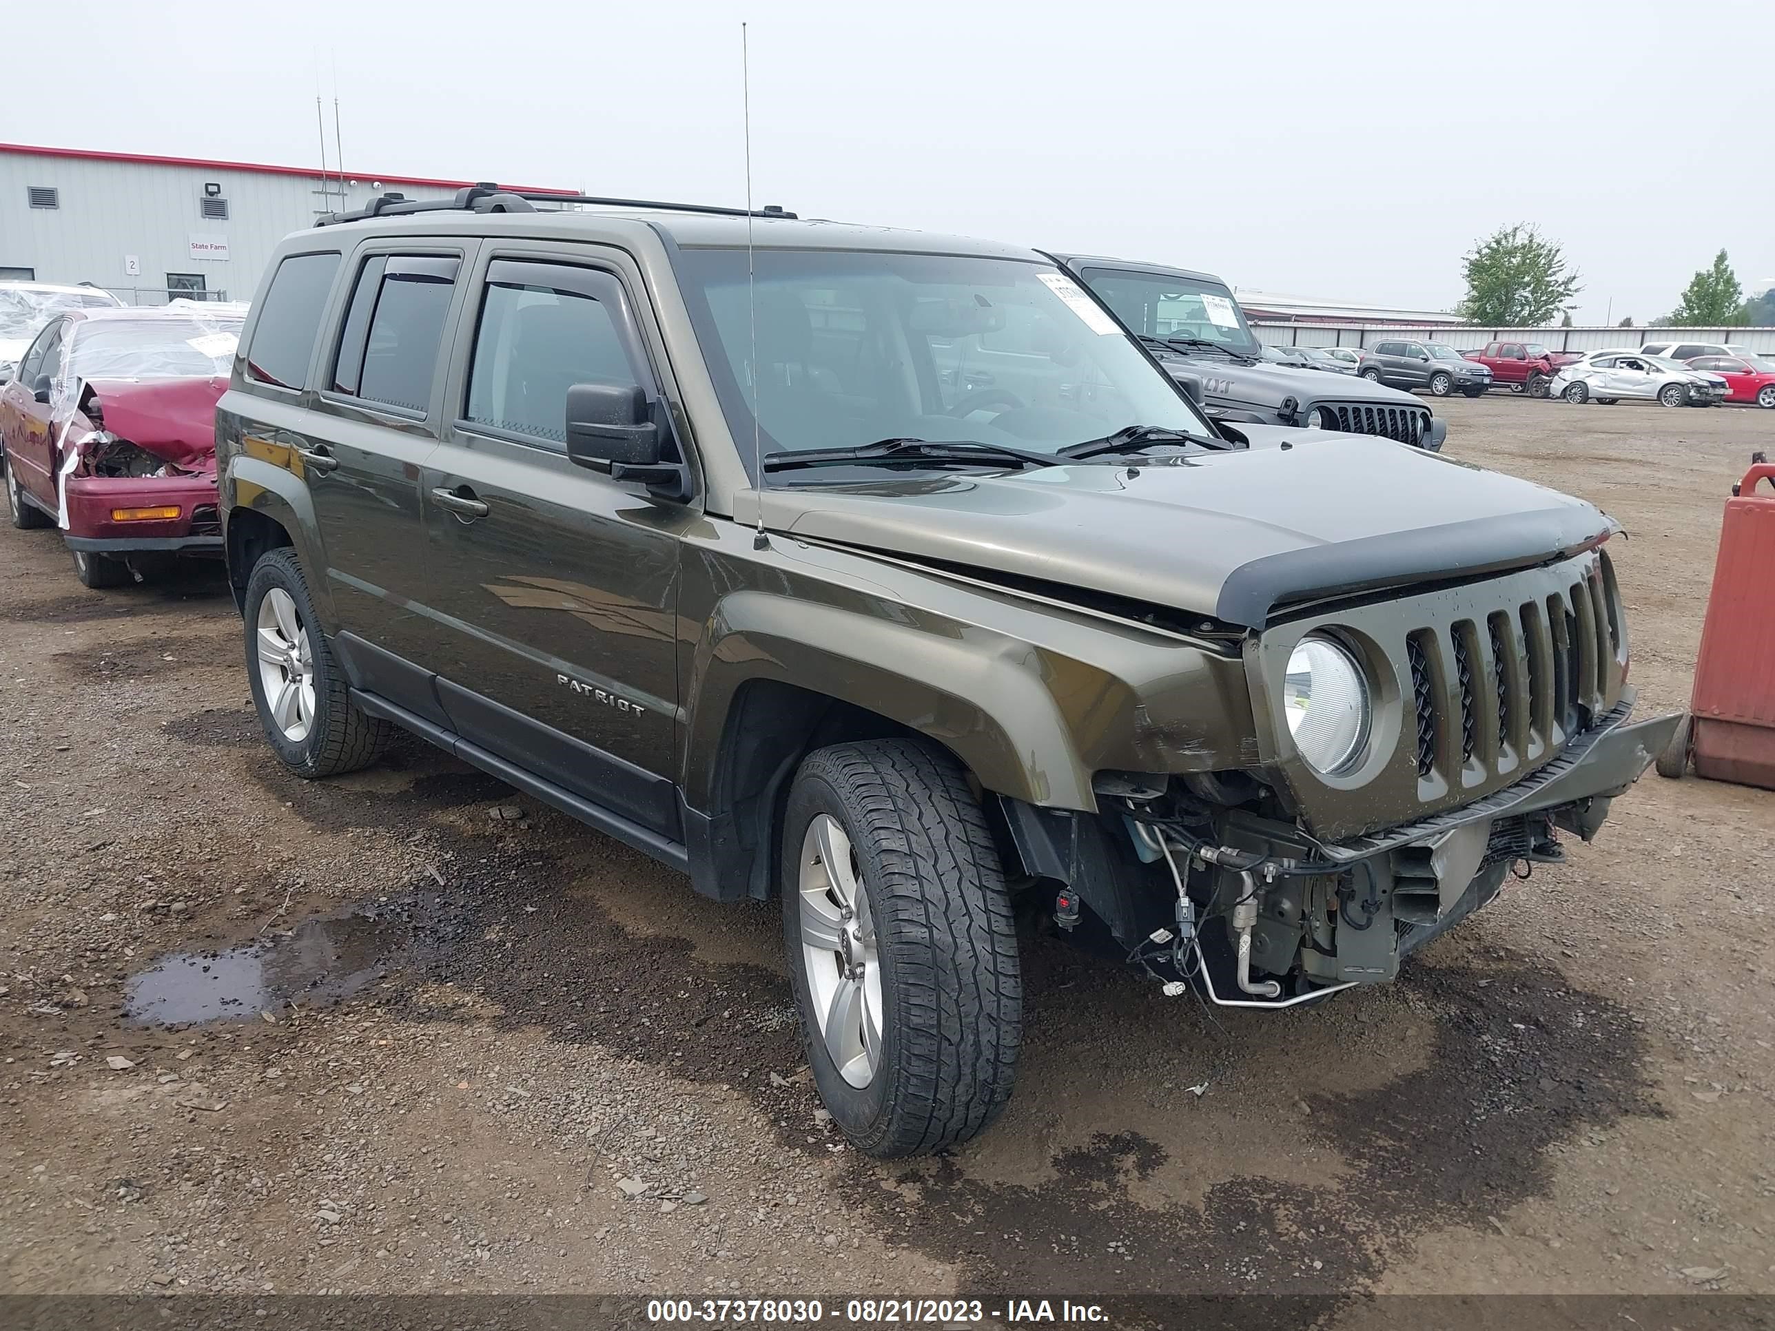
[[[1445,309],[1535,222],[1580,323],[1775,279],[1775,4],[16,5],[0,138],[740,202]],[[23,96],[27,87],[34,96]]]

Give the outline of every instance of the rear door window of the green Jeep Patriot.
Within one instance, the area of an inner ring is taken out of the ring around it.
[[[444,256],[366,259],[339,335],[332,390],[424,412],[460,266]]]

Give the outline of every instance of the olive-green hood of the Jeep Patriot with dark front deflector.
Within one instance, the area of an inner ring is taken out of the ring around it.
[[[1329,376],[1328,376],[1329,378]],[[1250,449],[765,492],[808,539],[1262,626],[1294,602],[1558,559],[1590,504],[1369,435],[1242,426]]]

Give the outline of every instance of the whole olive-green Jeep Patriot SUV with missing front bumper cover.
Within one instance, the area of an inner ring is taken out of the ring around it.
[[[275,252],[217,437],[277,756],[405,728],[779,894],[877,1155],[1010,1095],[1014,905],[1170,994],[1315,1001],[1590,838],[1674,726],[1628,722],[1606,516],[1212,422],[1031,250],[383,197]]]

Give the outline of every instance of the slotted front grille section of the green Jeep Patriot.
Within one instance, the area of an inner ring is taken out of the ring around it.
[[[1406,637],[1418,777],[1511,772],[1596,722],[1619,634],[1605,568],[1592,563],[1544,600]]]

